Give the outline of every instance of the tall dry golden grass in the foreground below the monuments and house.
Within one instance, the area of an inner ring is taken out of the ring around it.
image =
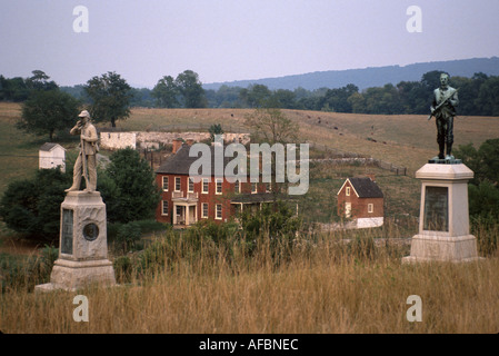
[[[119,287],[0,295],[3,333],[497,333],[499,256],[471,264],[401,265],[407,248],[371,233],[299,239],[290,249],[159,237],[157,261]],[[313,240],[311,244],[310,240]],[[89,299],[89,322],[72,318]],[[409,323],[407,298],[422,299]]]

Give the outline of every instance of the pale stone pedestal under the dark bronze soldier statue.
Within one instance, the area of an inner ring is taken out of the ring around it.
[[[460,160],[436,162],[416,172],[421,179],[419,234],[402,263],[473,261],[480,259],[477,239],[469,234],[468,180],[473,171]]]

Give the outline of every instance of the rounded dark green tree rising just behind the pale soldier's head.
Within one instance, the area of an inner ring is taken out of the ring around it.
[[[116,72],[107,72],[93,77],[84,86],[90,98],[90,115],[96,122],[111,122],[116,127],[117,120],[124,120],[130,116],[130,100],[133,97],[131,87]]]

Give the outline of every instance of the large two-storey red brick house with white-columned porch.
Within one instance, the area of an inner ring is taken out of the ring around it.
[[[173,145],[173,155],[156,170],[156,181],[161,189],[161,201],[156,219],[176,226],[189,226],[199,220],[228,221],[237,211],[258,208],[273,201],[265,184],[230,182],[214,176],[213,147],[211,147],[211,176],[194,182],[189,177],[191,164],[198,157],[189,157],[190,145]],[[223,168],[232,158],[224,158]],[[210,179],[208,179],[210,178]]]

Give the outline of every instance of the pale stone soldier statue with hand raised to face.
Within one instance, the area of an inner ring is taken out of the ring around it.
[[[84,191],[94,191],[97,188],[96,155],[99,151],[96,127],[90,123],[90,113],[83,110],[79,115],[80,120],[71,129],[71,135],[80,135],[80,155],[74,162],[72,186],[66,191],[80,190],[81,176],[86,180]]]

